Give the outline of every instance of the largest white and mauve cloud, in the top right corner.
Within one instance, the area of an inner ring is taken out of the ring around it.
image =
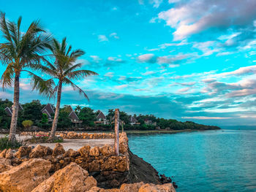
[[[255,9],[255,0],[247,0],[246,3],[244,0],[191,0],[159,12],[158,18],[165,20],[167,26],[175,28],[174,39],[181,40],[208,28],[253,26]]]

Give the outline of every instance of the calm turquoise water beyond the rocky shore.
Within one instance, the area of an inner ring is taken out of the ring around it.
[[[129,148],[177,191],[256,191],[256,131],[133,134]]]

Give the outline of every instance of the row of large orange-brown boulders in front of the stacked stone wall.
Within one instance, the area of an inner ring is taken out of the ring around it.
[[[0,158],[2,159],[2,158]],[[7,161],[3,164],[9,164]],[[0,191],[4,192],[175,192],[171,183],[122,184],[120,188],[104,189],[97,187],[97,180],[78,164],[71,163],[49,177],[50,161],[31,158],[19,166],[0,173]]]

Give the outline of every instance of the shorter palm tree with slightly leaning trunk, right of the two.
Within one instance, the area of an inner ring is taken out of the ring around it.
[[[78,63],[78,58],[81,55],[84,55],[83,50],[72,50],[72,47],[67,47],[66,38],[62,39],[62,42],[58,42],[56,39],[53,39],[52,44],[50,45],[50,51],[52,52],[54,62],[51,64],[49,61],[46,61],[46,66],[38,65],[42,72],[49,74],[51,76],[50,82],[57,80],[57,84],[53,89],[53,94],[57,93],[57,103],[56,111],[53,119],[53,126],[50,131],[49,140],[55,137],[58,118],[59,118],[59,108],[61,104],[61,91],[63,85],[71,85],[75,91],[78,91],[80,94],[86,97],[89,100],[86,93],[75,85],[73,80],[80,80],[82,78],[88,77],[89,75],[97,75],[96,72],[89,70],[80,69],[83,64]],[[54,84],[55,85],[55,84]]]

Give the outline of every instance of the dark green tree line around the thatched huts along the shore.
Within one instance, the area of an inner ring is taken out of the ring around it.
[[[0,127],[8,129],[10,127],[11,118],[4,111],[6,107],[11,107],[12,102],[8,99],[1,100],[0,99]],[[42,114],[42,108],[45,107],[45,104],[41,104],[39,100],[34,100],[26,104],[22,104],[23,110],[20,110],[18,114],[18,128],[22,130],[24,128],[23,121],[31,120],[33,126],[37,126],[39,128],[44,128],[45,130],[50,130],[51,122],[48,122],[47,116]],[[69,119],[69,107],[64,106],[60,108],[59,111],[59,120],[57,128],[58,130],[73,130],[74,128],[79,128],[83,131],[111,131],[114,129],[113,116],[114,110],[108,110],[108,114],[106,118],[108,119],[108,125],[95,124],[94,122],[97,120],[98,110],[92,110],[90,107],[80,107],[79,105],[75,107],[75,113],[78,115],[78,118],[82,120],[82,122],[75,126],[74,123]],[[154,115],[135,115],[138,120],[137,125],[130,124],[131,115],[127,114],[127,112],[120,111],[119,118],[122,122],[122,125],[125,130],[153,130],[156,128],[161,129],[172,129],[172,130],[182,130],[182,129],[218,129],[217,126],[206,126],[198,123],[194,123],[192,121],[181,122],[173,119],[165,119],[165,118],[157,118]],[[150,120],[152,123],[156,123],[155,125],[147,125],[145,123],[146,120]],[[121,128],[120,126],[120,128]]]

